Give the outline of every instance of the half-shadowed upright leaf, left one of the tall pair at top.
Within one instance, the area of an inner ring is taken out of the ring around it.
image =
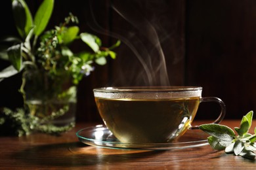
[[[30,9],[24,0],[12,0],[12,12],[18,33],[25,38],[33,25]]]

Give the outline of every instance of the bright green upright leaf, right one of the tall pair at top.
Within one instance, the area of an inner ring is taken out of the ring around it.
[[[35,35],[39,36],[47,26],[53,12],[54,0],[44,0],[35,13]]]

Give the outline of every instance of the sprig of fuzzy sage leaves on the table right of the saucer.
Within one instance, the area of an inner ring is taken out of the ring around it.
[[[255,158],[253,151],[256,150],[256,131],[254,130],[254,135],[248,133],[252,120],[253,111],[250,111],[242,118],[240,127],[234,127],[238,135],[230,127],[220,124],[203,124],[199,128],[211,135],[207,139],[212,148],[253,160]]]

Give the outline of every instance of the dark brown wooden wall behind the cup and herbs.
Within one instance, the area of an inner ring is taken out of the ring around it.
[[[26,2],[33,14],[41,3]],[[1,37],[18,35],[11,0],[0,7]],[[56,0],[48,28],[62,22],[68,12],[79,18],[81,31],[98,35],[104,46],[122,41],[117,59],[96,66],[79,84],[78,121],[100,120],[92,92],[100,86],[202,86],[203,96],[226,103],[225,118],[240,119],[256,110],[256,1]],[[141,59],[150,74],[142,69]],[[7,65],[0,61],[0,69]],[[0,107],[22,106],[20,83],[20,75],[0,82]],[[218,112],[217,105],[203,103],[197,118],[216,118]]]

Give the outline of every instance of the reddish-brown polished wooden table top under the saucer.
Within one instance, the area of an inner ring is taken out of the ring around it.
[[[221,124],[233,128],[240,120]],[[256,169],[256,161],[213,150],[209,145],[162,151],[88,146],[75,136],[77,130],[87,126],[91,124],[79,123],[59,137],[0,137],[0,169]],[[255,126],[256,120],[251,129]]]

